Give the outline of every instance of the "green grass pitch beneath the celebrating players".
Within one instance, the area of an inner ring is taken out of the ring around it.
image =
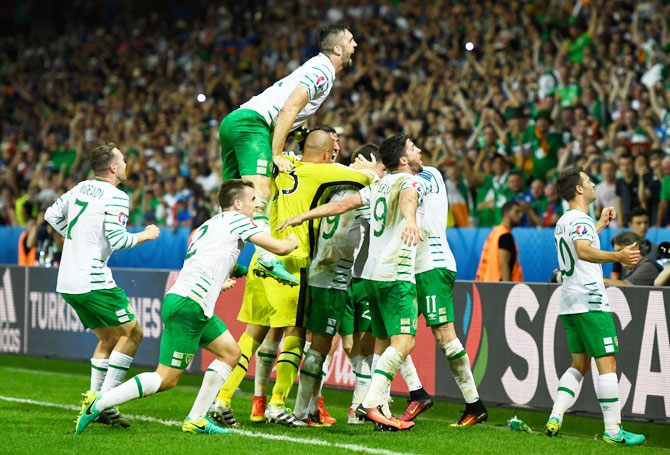
[[[129,376],[142,370],[131,369]],[[30,399],[44,403],[78,406],[81,393],[88,388],[88,365],[53,359],[0,355],[0,396]],[[174,390],[136,400],[121,407],[124,414],[147,416],[166,421],[181,421],[188,411],[200,385],[201,376],[185,375]],[[646,446],[638,448],[614,447],[600,440],[602,421],[567,416],[561,438],[515,433],[507,430],[506,420],[516,414],[538,431],[547,415],[533,411],[489,408],[489,421],[473,428],[451,428],[449,423],[460,416],[462,405],[436,403],[422,414],[414,429],[403,433],[379,433],[370,424],[346,425],[350,392],[325,390],[330,413],[338,419],[332,428],[284,428],[277,425],[249,422],[253,383],[245,381],[233,401],[233,409],[242,426],[240,430],[253,432],[231,435],[191,435],[182,433],[179,426],[130,419],[133,426],[124,430],[93,424],[81,436],[74,436],[73,421],[77,410],[47,407],[39,404],[17,403],[0,399],[2,426],[1,453],[142,453],[202,454],[212,449],[222,453],[286,455],[298,452],[319,454],[386,453],[410,454],[597,454],[668,453],[659,447],[670,447],[670,428],[667,425],[626,423],[625,428],[647,435]],[[294,391],[295,393],[295,388]],[[289,400],[292,403],[292,399]],[[396,397],[393,410],[404,411],[404,399]],[[263,436],[265,437],[258,437]],[[299,441],[271,440],[271,435],[290,437]],[[597,440],[594,440],[597,438]],[[314,442],[327,445],[315,445]],[[346,445],[357,447],[347,447]],[[370,450],[366,450],[370,449]],[[381,453],[381,452],[378,452]]]

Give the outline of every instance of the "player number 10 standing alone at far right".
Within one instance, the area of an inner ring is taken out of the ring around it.
[[[558,194],[570,204],[556,223],[554,239],[563,276],[560,318],[565,326],[572,365],[561,376],[558,393],[544,427],[548,436],[558,436],[563,414],[572,405],[579,383],[591,366],[598,367],[596,395],[605,421],[603,440],[612,444],[639,445],[645,437],[621,427],[621,405],[614,354],[619,351],[614,319],[603,283],[603,262],[636,264],[640,260],[637,244],[617,252],[602,251],[598,233],[616,218],[612,207],[602,210],[593,224],[588,216],[595,200],[595,184],[582,168],[563,171],[556,181]]]

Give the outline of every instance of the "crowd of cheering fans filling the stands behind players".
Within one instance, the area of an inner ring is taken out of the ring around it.
[[[213,210],[223,117],[348,24],[353,66],[310,123],[344,163],[404,131],[444,172],[451,226],[553,226],[553,181],[583,166],[594,216],[642,208],[670,225],[670,6],[662,1],[251,2],[134,15],[76,3],[51,28],[0,36],[0,225],[25,226],[89,175],[87,152],[127,155],[130,225],[191,226]],[[199,96],[203,95],[203,96]]]

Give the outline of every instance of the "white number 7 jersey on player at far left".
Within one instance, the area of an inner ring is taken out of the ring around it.
[[[112,251],[132,248],[126,231],[130,201],[111,183],[86,180],[58,198],[44,219],[65,238],[56,291],[84,294],[116,287],[107,260]]]

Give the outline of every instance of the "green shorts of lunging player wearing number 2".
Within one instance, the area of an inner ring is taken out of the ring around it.
[[[188,367],[198,346],[206,347],[228,330],[217,315],[208,319],[197,302],[177,294],[163,299],[161,319],[165,327],[159,363],[180,370]]]

